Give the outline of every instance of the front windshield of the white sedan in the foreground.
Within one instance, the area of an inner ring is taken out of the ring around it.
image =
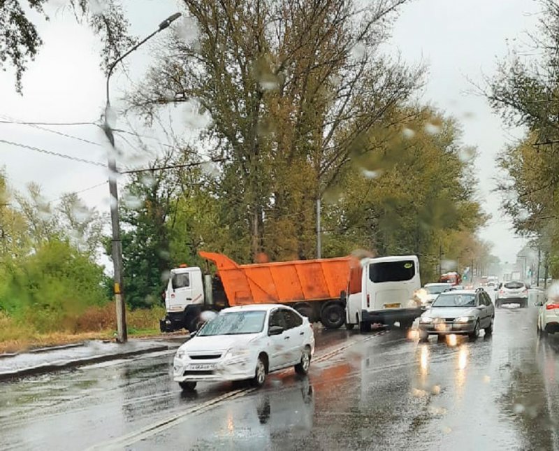
[[[258,334],[265,319],[266,312],[262,310],[222,313],[205,323],[198,336]]]

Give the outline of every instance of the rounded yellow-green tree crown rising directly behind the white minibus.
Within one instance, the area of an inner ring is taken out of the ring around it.
[[[474,199],[474,153],[459,145],[453,120],[428,108],[398,114],[398,125],[372,131],[368,141],[376,150],[356,157],[340,185],[327,193],[325,254],[356,248],[416,254],[423,277],[431,280],[441,250],[458,255],[459,245],[449,237],[463,231],[473,238],[484,223]]]

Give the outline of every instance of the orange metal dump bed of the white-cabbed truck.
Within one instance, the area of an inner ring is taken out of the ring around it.
[[[198,253],[217,267],[230,306],[339,299],[358,265],[352,257],[240,265],[222,254]]]

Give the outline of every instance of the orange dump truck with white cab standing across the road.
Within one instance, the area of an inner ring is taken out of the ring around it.
[[[214,252],[199,255],[215,265],[215,275],[188,266],[170,271],[161,331],[193,330],[203,310],[254,303],[288,304],[335,329],[344,324],[348,286],[361,289],[361,266],[352,257],[240,265]]]

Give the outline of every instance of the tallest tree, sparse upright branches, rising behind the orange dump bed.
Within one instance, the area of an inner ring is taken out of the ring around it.
[[[170,38],[131,103],[211,117],[201,143],[228,158],[222,217],[246,256],[314,254],[314,201],[421,78],[379,50],[402,3],[184,0],[196,40]]]

